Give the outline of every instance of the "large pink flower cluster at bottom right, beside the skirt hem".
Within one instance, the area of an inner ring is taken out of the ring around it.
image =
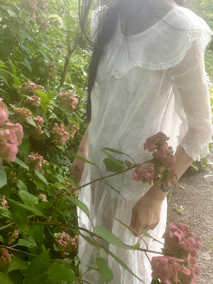
[[[170,224],[163,237],[164,256],[153,257],[151,261],[153,279],[160,279],[162,284],[195,284],[200,272],[196,258],[199,237],[185,224]]]

